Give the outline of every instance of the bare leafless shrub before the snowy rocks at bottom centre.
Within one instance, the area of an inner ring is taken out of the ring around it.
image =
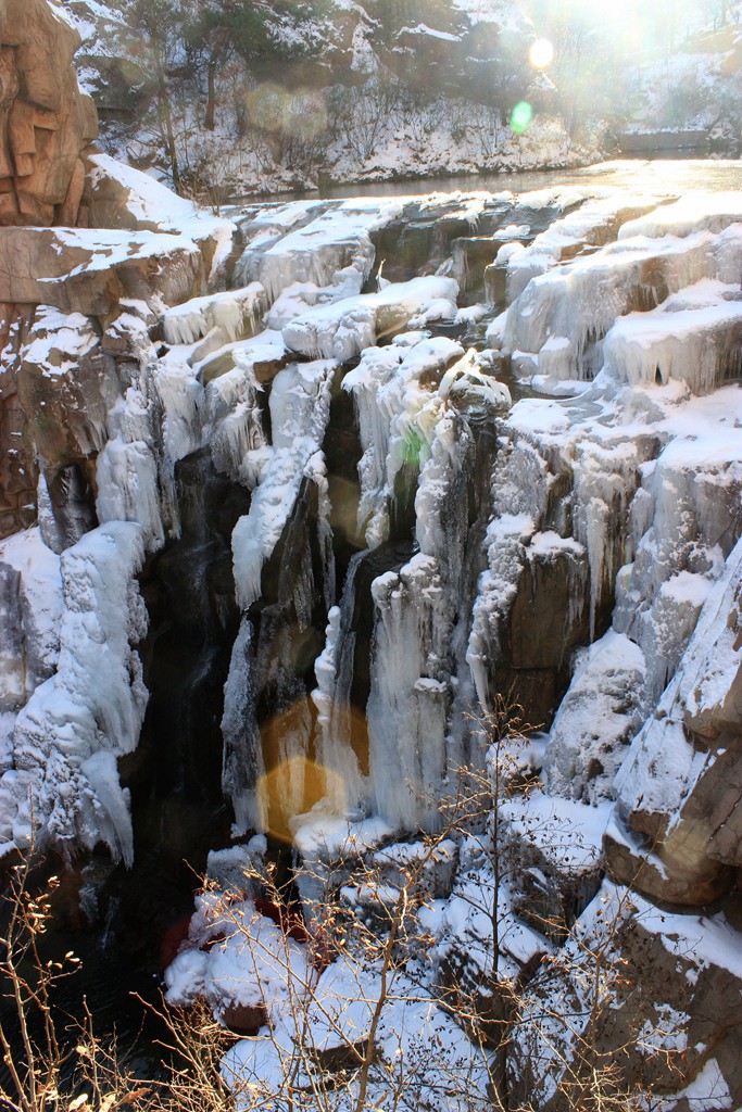
[[[209,996],[206,976],[207,1000],[224,1014],[225,999],[249,983],[263,1014],[259,1032],[238,1040],[222,1064],[240,1108],[416,1112],[445,1100],[459,1112],[534,1112],[540,1101],[524,1079],[544,1055],[566,1112],[651,1106],[651,1095],[629,1084],[615,1061],[636,1048],[639,1033],[627,1032],[611,1052],[601,1042],[606,1009],[627,985],[621,935],[630,896],[600,909],[593,933],[560,915],[542,919],[540,952],[524,966],[514,963],[508,892],[517,861],[504,815],[506,803],[527,802],[538,786],[524,759],[530,728],[512,696],[473,715],[472,727],[487,745],[486,766],[456,771],[435,835],[385,846],[365,844],[349,827],[343,844],[305,857],[303,916],[288,910],[288,893],[269,868],[247,873],[243,891],[207,891],[205,933],[194,944],[220,947],[222,971],[230,947],[241,955],[234,984],[222,973]],[[524,824],[526,837],[552,848],[578,837],[568,823],[543,816]],[[464,883],[455,894],[488,922],[487,953],[478,963],[444,963],[432,975],[426,915],[452,845],[479,878],[468,883],[459,866]],[[280,930],[266,930],[266,907]],[[557,935],[562,944],[550,943]]]

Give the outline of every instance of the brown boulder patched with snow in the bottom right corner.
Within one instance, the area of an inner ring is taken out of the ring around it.
[[[592,1070],[610,1061],[622,1089],[666,1109],[736,1108],[741,947],[721,912],[660,911],[606,882],[523,994],[508,1063],[516,1099],[556,1112],[572,1086],[594,1093]]]

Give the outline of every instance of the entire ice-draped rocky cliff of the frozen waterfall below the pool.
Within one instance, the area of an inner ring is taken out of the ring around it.
[[[266,834],[295,847],[305,898],[339,861],[373,920],[353,862],[398,886],[452,768],[486,767],[472,715],[513,691],[541,732],[495,846],[498,967],[522,989],[511,1092],[561,1106],[610,953],[630,975],[601,995],[597,1052],[667,1109],[738,1106],[739,196],[225,220],[86,166],[86,228],[0,237],[6,854],[33,833],[130,865],[148,830],[167,853],[224,794],[237,845],[215,875]],[[477,844],[433,861],[407,991],[416,1037],[458,1048],[462,1092],[487,1070],[436,1001],[492,974]],[[171,999],[251,1006],[201,912]],[[333,1006],[373,989],[326,974]],[[249,1078],[264,1043],[230,1069]]]

